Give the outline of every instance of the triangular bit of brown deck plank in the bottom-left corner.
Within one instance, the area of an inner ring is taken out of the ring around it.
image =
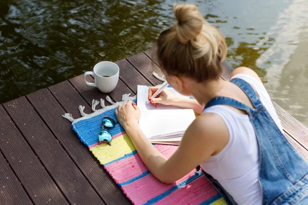
[[[33,204],[20,180],[0,152],[0,201],[2,204]]]

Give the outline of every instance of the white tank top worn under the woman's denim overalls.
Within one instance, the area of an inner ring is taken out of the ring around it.
[[[255,88],[261,103],[282,131],[280,120],[264,86],[251,75],[237,74],[233,78],[241,78]],[[217,179],[238,204],[262,204],[258,181],[259,148],[248,115],[237,113],[223,105],[209,107],[203,111],[206,112],[216,113],[224,120],[229,131],[229,141],[220,153],[210,156],[200,167]]]

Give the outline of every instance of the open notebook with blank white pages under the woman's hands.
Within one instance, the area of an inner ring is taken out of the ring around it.
[[[141,110],[141,130],[151,142],[178,145],[185,130],[196,118],[194,111],[164,105],[156,108],[149,103],[148,89],[147,86],[138,86],[137,91],[137,105]],[[166,89],[183,96],[173,88]]]

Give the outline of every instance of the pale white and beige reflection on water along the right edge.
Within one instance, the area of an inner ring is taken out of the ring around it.
[[[308,1],[295,0],[281,12],[267,35],[274,33],[277,37],[273,45],[256,63],[267,67],[265,87],[272,99],[307,127]]]

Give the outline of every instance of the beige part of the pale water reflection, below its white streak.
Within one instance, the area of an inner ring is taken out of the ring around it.
[[[266,86],[277,104],[308,127],[308,27],[300,30],[292,59],[283,67],[277,81]]]

